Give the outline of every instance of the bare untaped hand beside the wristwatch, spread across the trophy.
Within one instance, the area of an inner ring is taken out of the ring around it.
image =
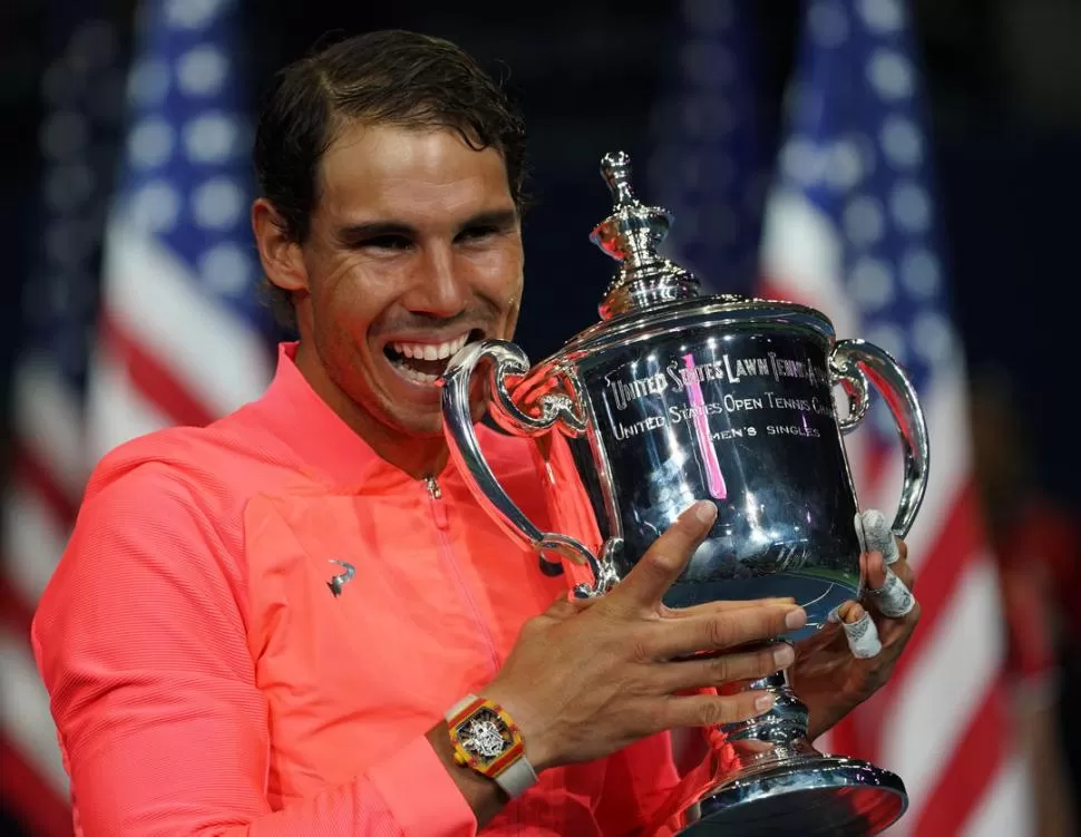
[[[610,593],[585,603],[561,598],[525,624],[480,693],[514,718],[537,770],[600,758],[661,730],[744,720],[772,705],[760,691],[694,690],[787,668],[793,655],[787,644],[748,646],[802,626],[802,609],[789,600],[681,611],[661,603],[715,515],[712,503],[697,503]]]

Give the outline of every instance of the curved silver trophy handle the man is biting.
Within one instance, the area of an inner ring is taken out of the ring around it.
[[[469,401],[474,372],[483,360],[491,363],[491,412],[501,428],[515,436],[540,436],[551,432],[557,422],[582,432],[586,422],[574,410],[566,395],[549,392],[537,399],[539,416],[529,416],[518,409],[510,398],[507,378],[524,376],[529,371],[529,359],[514,343],[506,340],[483,340],[470,343],[447,364],[440,381],[442,385],[444,434],[450,448],[450,458],[466,480],[481,507],[516,542],[536,549],[540,570],[548,575],[562,571],[559,564],[548,561],[544,553],[554,552],[577,564],[588,564],[595,578],[597,592],[608,576],[602,564],[584,544],[567,535],[542,532],[507,495],[491,471],[480,450],[474,427]]]

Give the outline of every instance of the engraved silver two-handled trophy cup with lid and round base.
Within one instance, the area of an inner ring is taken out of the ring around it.
[[[658,254],[671,218],[634,196],[627,156],[606,155],[601,168],[615,208],[592,241],[620,262],[601,322],[537,366],[500,340],[459,352],[444,378],[450,455],[478,502],[538,552],[543,570],[561,572],[557,557],[592,568],[580,595],[617,584],[690,503],[712,499],[717,522],[665,603],[792,596],[808,622],[779,639],[807,642],[861,592],[858,505],[841,437],[867,412],[868,382],[904,448],[897,535],[919,508],[928,444],[913,387],[889,354],[837,340],[814,309],[701,295],[694,276]],[[552,457],[542,481],[554,532],[517,508],[485,461],[469,407],[478,366],[489,369],[490,418]],[[848,397],[844,416],[836,386]],[[773,690],[776,705],[712,737],[722,743],[707,781],[684,784],[671,802],[682,834],[873,835],[904,814],[899,777],[811,746],[807,708],[787,673],[744,688]]]

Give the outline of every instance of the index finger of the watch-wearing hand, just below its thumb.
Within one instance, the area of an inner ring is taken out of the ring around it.
[[[782,636],[807,624],[807,612],[791,604],[743,607],[702,619],[663,620],[653,627],[646,653],[671,660],[703,651],[723,651]]]

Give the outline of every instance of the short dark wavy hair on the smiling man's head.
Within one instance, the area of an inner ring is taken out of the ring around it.
[[[524,211],[525,126],[474,58],[441,38],[384,30],[319,49],[273,78],[260,109],[253,162],[284,233],[303,243],[319,201],[319,166],[350,121],[457,130],[504,158],[510,196]],[[276,319],[295,328],[291,294],[264,280]]]

